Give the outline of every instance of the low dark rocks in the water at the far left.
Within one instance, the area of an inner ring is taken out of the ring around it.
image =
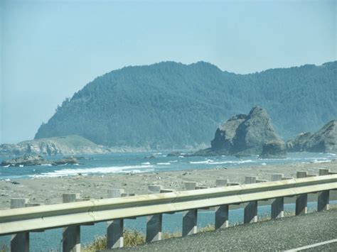
[[[23,157],[4,160],[0,166],[75,165],[77,163],[77,158],[73,156],[51,161],[43,158],[41,155],[24,155]]]

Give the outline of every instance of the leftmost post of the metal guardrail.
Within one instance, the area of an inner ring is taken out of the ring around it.
[[[26,207],[28,199],[11,199],[11,208]],[[11,252],[29,251],[29,233],[14,234],[11,236]]]

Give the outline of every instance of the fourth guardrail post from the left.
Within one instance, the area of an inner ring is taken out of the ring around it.
[[[160,193],[161,185],[149,185],[149,195]],[[160,241],[161,240],[161,226],[163,223],[163,214],[154,214],[147,217],[146,223],[146,242]]]

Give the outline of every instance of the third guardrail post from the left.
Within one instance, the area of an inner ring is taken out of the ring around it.
[[[122,197],[124,189],[108,189],[107,195],[109,198]],[[115,219],[107,221],[107,249],[109,248],[122,248],[124,246],[123,238],[124,220]]]

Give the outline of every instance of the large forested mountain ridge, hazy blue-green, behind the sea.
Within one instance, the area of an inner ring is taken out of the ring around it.
[[[105,146],[208,146],[218,126],[252,106],[282,138],[337,117],[337,61],[248,75],[207,62],[124,67],[97,77],[59,106],[35,138],[79,135]]]

